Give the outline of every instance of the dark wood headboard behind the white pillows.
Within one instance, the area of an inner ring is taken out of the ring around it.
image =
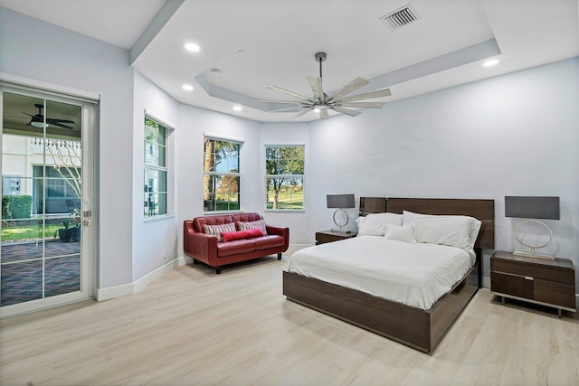
[[[464,215],[482,222],[474,244],[479,249],[495,249],[495,201],[450,198],[360,197],[360,215],[410,211],[422,214]]]

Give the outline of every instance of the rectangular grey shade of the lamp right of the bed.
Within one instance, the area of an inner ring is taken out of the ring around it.
[[[559,220],[559,197],[505,196],[505,217]]]

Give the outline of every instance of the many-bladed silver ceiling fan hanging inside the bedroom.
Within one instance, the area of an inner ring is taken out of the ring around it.
[[[302,99],[301,101],[287,101],[287,100],[261,100],[262,102],[274,102],[274,103],[289,103],[294,105],[300,105],[299,107],[292,107],[292,108],[281,108],[277,110],[271,110],[269,112],[280,112],[280,111],[289,111],[295,110],[296,108],[304,108],[303,111],[300,111],[298,114],[294,115],[291,118],[299,118],[309,111],[314,110],[319,113],[319,118],[326,119],[329,117],[328,110],[337,111],[338,113],[346,114],[350,117],[356,117],[360,114],[359,111],[351,109],[351,108],[382,108],[385,102],[359,102],[358,100],[365,100],[365,99],[374,99],[374,98],[381,98],[381,97],[389,97],[392,95],[390,89],[378,89],[371,92],[366,92],[364,94],[352,95],[346,97],[346,94],[349,94],[356,89],[359,89],[370,82],[365,80],[364,78],[357,77],[355,80],[352,80],[346,86],[338,89],[332,95],[327,95],[322,88],[322,62],[326,61],[327,54],[326,52],[317,52],[315,55],[316,61],[319,62],[319,76],[308,76],[309,86],[311,87],[312,91],[314,92],[313,98],[307,98],[303,95],[296,94],[295,92],[291,92],[287,89],[282,89],[277,86],[269,86],[269,89],[273,89],[284,94],[290,95],[292,97],[296,97]]]

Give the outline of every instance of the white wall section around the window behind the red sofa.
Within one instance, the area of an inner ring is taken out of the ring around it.
[[[203,208],[203,140],[204,133],[243,139],[240,170],[241,208],[244,212],[262,212],[260,200],[260,124],[252,120],[209,111],[193,106],[179,106],[177,148],[178,226],[183,221],[204,215]],[[179,256],[183,252],[183,231],[179,231]]]

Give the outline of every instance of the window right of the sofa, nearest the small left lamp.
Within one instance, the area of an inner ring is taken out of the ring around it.
[[[265,146],[266,209],[304,209],[305,146]]]

